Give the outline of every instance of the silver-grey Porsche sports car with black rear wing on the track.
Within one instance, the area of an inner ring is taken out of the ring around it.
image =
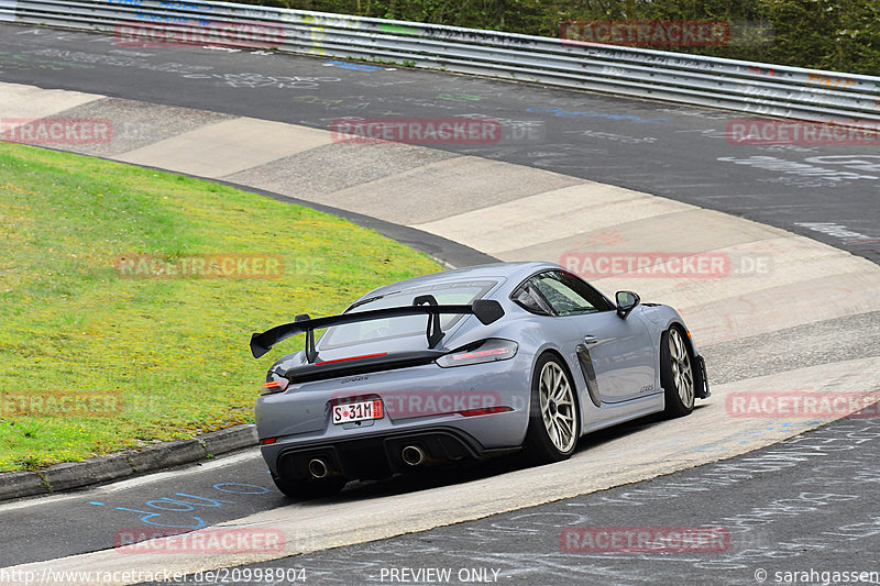
[[[272,476],[297,498],[431,463],[565,460],[585,433],[685,416],[710,394],[674,309],[631,291],[612,301],[549,263],[386,285],[340,316],[253,334],[251,351],[300,333],[305,349],[272,365],[255,407]]]

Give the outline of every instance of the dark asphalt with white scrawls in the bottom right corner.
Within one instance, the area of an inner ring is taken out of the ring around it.
[[[878,454],[880,419],[840,419],[644,483],[186,583],[877,584]],[[715,539],[682,537],[700,530]]]

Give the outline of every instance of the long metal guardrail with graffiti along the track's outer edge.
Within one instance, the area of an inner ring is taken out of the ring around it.
[[[202,0],[0,0],[1,21],[176,38],[232,34],[233,44],[290,53],[851,126],[880,122],[880,77],[495,31]]]

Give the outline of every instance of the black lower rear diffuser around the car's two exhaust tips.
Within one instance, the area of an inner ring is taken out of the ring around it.
[[[380,479],[395,473],[413,469],[404,462],[404,447],[417,446],[425,452],[426,463],[455,462],[465,458],[483,460],[516,450],[486,450],[476,439],[455,428],[430,428],[398,433],[316,442],[266,450],[263,455],[270,468],[278,476],[292,480],[308,480],[309,462],[321,460],[330,476],[348,479]],[[273,465],[274,464],[274,465]]]

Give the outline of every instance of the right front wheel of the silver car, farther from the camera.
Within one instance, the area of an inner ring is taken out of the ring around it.
[[[666,414],[682,417],[694,410],[696,392],[694,361],[681,329],[673,325],[660,336],[660,383]]]

